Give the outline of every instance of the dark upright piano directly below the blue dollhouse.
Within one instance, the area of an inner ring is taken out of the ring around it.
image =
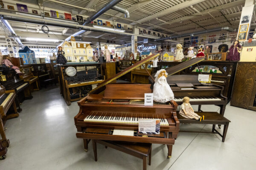
[[[29,83],[29,89],[31,92],[39,90],[38,76],[33,75],[32,68],[33,67],[31,65],[20,66],[20,71],[23,73],[23,75],[20,76],[20,79]]]

